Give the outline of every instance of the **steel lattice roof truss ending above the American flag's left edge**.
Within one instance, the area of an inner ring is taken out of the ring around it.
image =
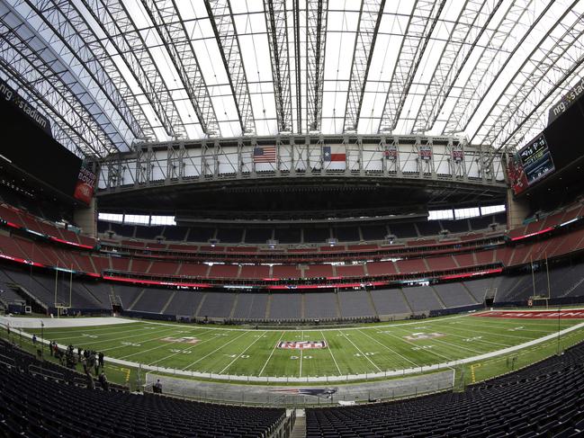
[[[256,121],[231,4],[229,0],[205,0],[205,7],[209,13],[209,20],[217,39],[223,65],[228,73],[229,86],[235,98],[235,106],[241,125],[241,134],[255,134]]]

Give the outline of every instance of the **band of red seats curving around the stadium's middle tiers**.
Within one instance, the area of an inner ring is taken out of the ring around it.
[[[192,263],[182,256],[169,259],[153,254],[152,251],[147,254],[146,248],[141,252],[126,254],[123,248],[85,245],[88,243],[86,237],[77,238],[73,242],[69,233],[77,237],[75,233],[54,226],[51,228],[28,213],[2,206],[2,225],[11,233],[0,236],[0,258],[39,268],[137,284],[202,289],[234,285],[267,290],[374,287],[419,279],[454,280],[501,273],[504,268],[511,266],[578,252],[584,249],[584,229],[580,228],[583,209],[580,204],[574,205],[571,209],[554,213],[518,230],[511,230],[504,239],[482,238],[467,242],[420,245],[416,246],[418,251],[411,251],[413,248],[377,246],[352,253],[354,263],[351,264],[299,265],[272,261],[267,265],[252,264],[246,253],[238,253],[239,262],[226,260],[203,264]],[[36,228],[24,227],[22,223]],[[53,235],[41,234],[38,229]],[[54,236],[57,231],[61,233],[60,237],[67,237],[68,240]],[[372,256],[370,249],[377,254]],[[384,253],[380,254],[381,251]],[[220,254],[229,253],[222,251]],[[333,254],[333,257],[337,256],[337,252]],[[384,258],[376,260],[377,256]]]

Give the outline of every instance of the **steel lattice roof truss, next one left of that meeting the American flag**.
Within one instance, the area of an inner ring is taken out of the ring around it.
[[[211,95],[175,0],[142,0],[142,4],[172,59],[202,131],[208,137],[220,136]]]

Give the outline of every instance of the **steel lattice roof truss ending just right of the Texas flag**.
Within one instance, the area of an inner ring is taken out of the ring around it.
[[[359,124],[359,114],[363,103],[365,83],[369,75],[377,31],[382,22],[385,0],[363,0],[359,11],[359,24],[355,35],[355,49],[349,90],[346,95],[345,120],[343,132],[356,131]]]

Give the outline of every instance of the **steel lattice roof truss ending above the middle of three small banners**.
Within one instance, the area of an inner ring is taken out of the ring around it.
[[[502,0],[467,0],[464,3],[427,86],[412,132],[426,132],[434,127],[454,82],[502,3]]]

